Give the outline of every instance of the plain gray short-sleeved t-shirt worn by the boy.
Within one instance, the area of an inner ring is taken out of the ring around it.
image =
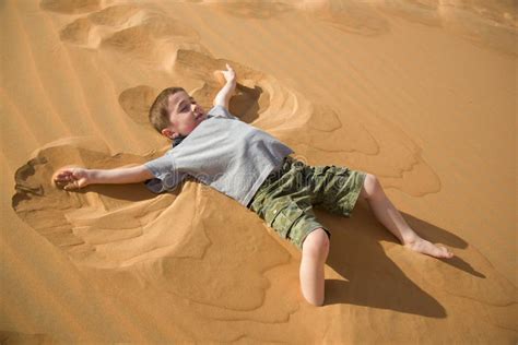
[[[155,177],[145,186],[161,193],[190,175],[246,206],[268,175],[292,153],[274,136],[217,105],[180,144],[144,164]]]

